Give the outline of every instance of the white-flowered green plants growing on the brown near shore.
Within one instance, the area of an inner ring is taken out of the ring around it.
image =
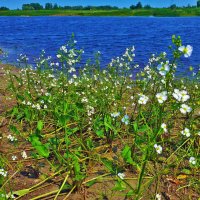
[[[0,154],[1,197],[21,199],[39,190],[26,199],[67,199],[94,187],[98,199],[160,200],[168,197],[170,180],[174,193],[197,199],[200,70],[191,69],[191,80],[176,77],[180,58],[193,49],[180,37],[172,42],[171,55],[152,55],[138,73],[134,47],[104,69],[100,52],[80,65],[84,52],[73,38],[54,58],[43,51],[35,66],[20,55],[18,73],[5,71],[5,91],[15,105],[5,112],[8,131],[1,140],[14,150]],[[30,172],[32,162],[48,171]],[[16,191],[13,179],[26,163],[29,173],[21,173],[40,182]],[[41,190],[48,184],[56,188]]]

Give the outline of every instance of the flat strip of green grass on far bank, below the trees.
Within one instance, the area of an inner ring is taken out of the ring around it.
[[[195,17],[200,8],[151,8],[118,10],[8,10],[0,16],[146,16],[146,17]]]

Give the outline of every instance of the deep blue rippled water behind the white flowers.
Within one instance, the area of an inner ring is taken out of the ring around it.
[[[0,17],[0,48],[9,53],[10,63],[20,53],[31,60],[42,49],[54,55],[72,33],[85,59],[101,51],[102,66],[133,45],[135,62],[144,66],[152,53],[168,52],[173,34],[194,48],[192,57],[182,59],[180,71],[200,64],[199,17]]]

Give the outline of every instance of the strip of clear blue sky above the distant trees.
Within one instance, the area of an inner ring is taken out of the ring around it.
[[[132,4],[136,4],[141,1],[143,5],[149,4],[153,7],[167,7],[171,4],[178,6],[196,5],[197,0],[0,0],[0,7],[6,6],[11,9],[21,8],[24,3],[41,3],[47,2],[57,3],[58,5],[112,5],[118,7],[129,7]]]

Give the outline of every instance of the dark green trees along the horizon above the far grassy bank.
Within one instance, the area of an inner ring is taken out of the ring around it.
[[[200,7],[200,0],[197,1],[196,6],[190,6],[189,4],[187,6],[178,7],[176,4],[172,4],[168,8],[170,9],[176,9],[176,8],[191,8],[191,7]],[[150,5],[142,5],[141,2],[138,2],[135,5],[131,5],[129,9],[151,9],[152,7]],[[117,6],[60,6],[57,3],[46,3],[45,6],[41,5],[40,3],[29,3],[29,4],[23,4],[22,10],[118,10],[120,9]],[[9,10],[7,7],[0,7],[0,10]]]

